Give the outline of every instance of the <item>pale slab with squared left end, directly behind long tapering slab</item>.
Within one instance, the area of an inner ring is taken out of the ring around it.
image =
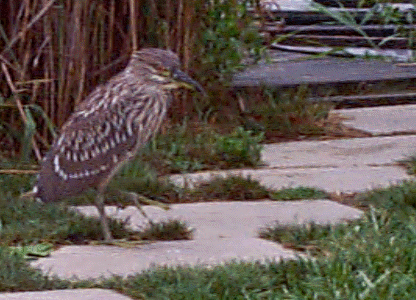
[[[393,165],[414,154],[416,135],[404,135],[269,144],[262,160],[273,169],[340,168]]]

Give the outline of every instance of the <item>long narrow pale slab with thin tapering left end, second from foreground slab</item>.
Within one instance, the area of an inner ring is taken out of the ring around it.
[[[261,169],[201,172],[196,174],[175,175],[172,182],[189,187],[209,181],[215,177],[230,175],[258,180],[271,189],[314,187],[327,192],[356,193],[374,188],[384,188],[413,179],[401,167],[300,167],[293,169]]]

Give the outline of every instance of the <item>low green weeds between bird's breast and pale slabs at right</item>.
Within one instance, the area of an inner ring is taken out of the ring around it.
[[[229,134],[212,128],[191,129],[180,126],[158,136],[137,158],[159,174],[195,172],[200,170],[255,167],[260,163],[262,133],[241,127]],[[123,174],[134,169],[132,163]]]

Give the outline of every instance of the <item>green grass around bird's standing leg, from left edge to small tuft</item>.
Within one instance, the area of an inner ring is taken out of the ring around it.
[[[0,182],[0,246],[85,244],[103,239],[98,218],[86,217],[68,208],[68,204],[91,204],[93,193],[87,193],[74,201],[41,204],[19,198],[22,187],[28,190],[33,184],[33,177],[1,175]],[[114,197],[110,194],[111,196]],[[115,199],[113,202],[116,202]],[[116,239],[137,239],[143,236],[146,240],[158,240],[159,237],[168,240],[169,236],[171,239],[189,239],[190,236],[186,224],[175,220],[156,223],[155,228],[145,228],[143,232],[129,230],[126,222],[115,219],[110,219],[109,225]]]

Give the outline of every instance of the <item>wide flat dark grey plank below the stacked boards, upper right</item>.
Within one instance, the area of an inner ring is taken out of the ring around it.
[[[416,79],[415,64],[326,57],[251,66],[236,74],[232,85],[235,88],[281,87],[405,79]]]

